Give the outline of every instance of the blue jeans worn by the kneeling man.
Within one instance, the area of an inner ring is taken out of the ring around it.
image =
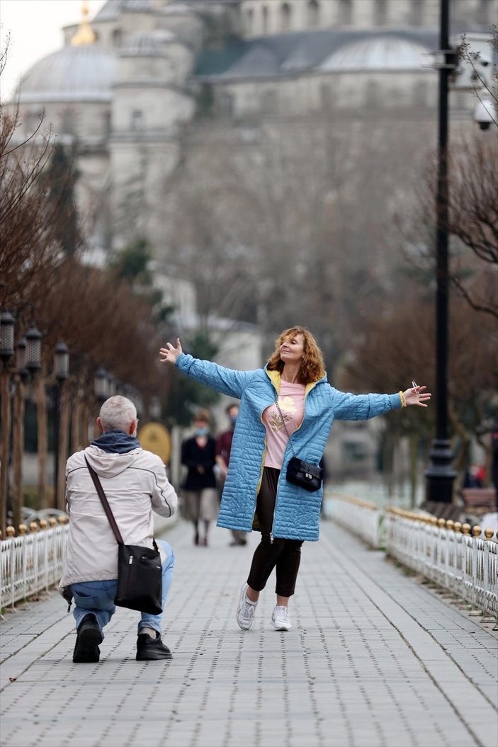
[[[165,562],[162,564],[162,609],[164,613],[167,597],[170,593],[171,581],[173,580],[175,554],[165,540],[158,539],[156,542],[158,545],[161,545],[166,555]],[[76,630],[84,616],[91,613],[96,617],[96,622],[99,624],[100,634],[103,639],[104,627],[116,612],[116,607],[114,606],[116,589],[117,580],[84,581],[83,583],[71,584],[75,603],[73,615],[76,620]],[[140,633],[142,627],[152,627],[153,630],[156,630],[161,635],[163,613],[160,615],[141,613],[141,619],[138,623],[138,633]]]

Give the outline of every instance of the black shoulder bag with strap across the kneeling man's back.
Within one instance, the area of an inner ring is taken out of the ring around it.
[[[162,563],[156,540],[153,539],[153,548],[124,544],[99,476],[90,467],[86,456],[84,461],[87,462],[93,485],[117,542],[117,590],[114,604],[129,610],[159,615],[162,613]]]

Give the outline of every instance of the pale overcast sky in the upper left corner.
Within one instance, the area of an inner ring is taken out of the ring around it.
[[[90,19],[105,0],[89,0]],[[10,33],[7,65],[1,74],[1,100],[13,94],[19,78],[40,58],[63,46],[62,27],[82,18],[82,0],[0,0],[0,37]]]

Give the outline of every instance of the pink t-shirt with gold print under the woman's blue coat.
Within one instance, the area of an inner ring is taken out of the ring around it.
[[[303,421],[305,391],[304,384],[289,384],[289,382],[280,380],[278,404],[283,419],[286,421],[289,436]],[[265,467],[280,469],[283,462],[283,452],[286,450],[289,438],[286,429],[283,427],[280,413],[274,404],[263,410],[262,421],[266,428]]]

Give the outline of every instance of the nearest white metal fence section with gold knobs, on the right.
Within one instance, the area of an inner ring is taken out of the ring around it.
[[[439,586],[498,615],[498,543],[494,530],[421,516],[402,509],[386,515],[387,553]]]

